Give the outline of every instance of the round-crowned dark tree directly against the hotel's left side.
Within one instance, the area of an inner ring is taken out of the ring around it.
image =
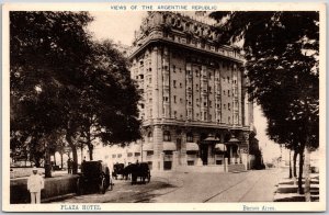
[[[140,138],[137,103],[140,99],[131,79],[128,63],[110,41],[94,43],[87,59],[79,100],[80,139],[89,148],[94,140],[105,145]]]

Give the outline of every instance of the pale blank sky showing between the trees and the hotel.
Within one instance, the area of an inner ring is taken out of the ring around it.
[[[128,46],[132,45],[134,33],[139,29],[143,18],[147,15],[145,11],[131,11],[129,13],[106,11],[90,12],[90,14],[94,16],[94,21],[90,23],[88,30],[95,39],[112,39]],[[261,108],[256,104],[254,126],[264,161],[271,161],[272,158],[281,156],[279,144],[270,140],[265,134],[266,118],[263,116]]]

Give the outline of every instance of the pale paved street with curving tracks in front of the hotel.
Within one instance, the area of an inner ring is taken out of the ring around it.
[[[275,184],[286,170],[251,170],[240,173],[175,173],[152,176],[148,184],[131,185],[114,180],[113,191],[105,194],[73,196],[65,203],[202,203],[202,202],[272,202]],[[58,202],[57,202],[58,203]]]

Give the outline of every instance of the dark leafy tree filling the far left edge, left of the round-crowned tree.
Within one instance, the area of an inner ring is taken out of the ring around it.
[[[66,102],[77,101],[80,68],[90,50],[84,31],[90,21],[86,12],[10,12],[13,133],[26,132],[38,143],[66,128]]]

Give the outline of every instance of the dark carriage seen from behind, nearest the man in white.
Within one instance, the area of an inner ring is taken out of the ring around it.
[[[104,194],[107,189],[113,189],[110,168],[102,161],[83,161],[79,176],[77,180],[77,194],[79,195],[86,191],[98,191]]]

